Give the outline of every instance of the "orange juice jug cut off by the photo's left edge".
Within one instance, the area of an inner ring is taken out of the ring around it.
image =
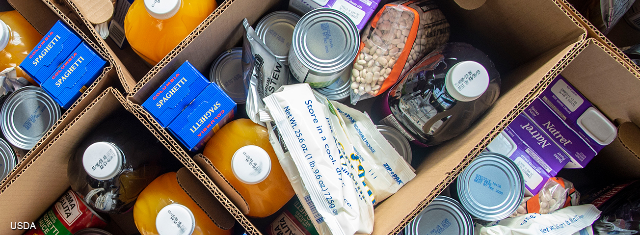
[[[0,12],[0,20],[0,71],[15,67],[18,77],[36,85],[18,65],[38,45],[42,35],[17,11]]]

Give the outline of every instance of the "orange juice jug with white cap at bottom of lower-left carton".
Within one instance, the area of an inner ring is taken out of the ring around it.
[[[160,175],[142,190],[133,206],[138,231],[142,235],[230,235],[182,190],[176,176],[175,172]]]

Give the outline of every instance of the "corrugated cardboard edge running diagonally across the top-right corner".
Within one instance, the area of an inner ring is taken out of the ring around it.
[[[607,53],[616,54],[615,59],[620,61],[620,63],[622,65],[624,65],[625,67],[628,67],[629,71],[632,74],[634,74],[636,77],[640,78],[640,67],[638,65],[636,65],[636,63],[631,61],[631,59],[627,55],[625,55],[625,53],[622,53],[622,51],[620,51],[620,49],[618,47],[616,47],[616,45],[614,45],[613,42],[611,42],[611,40],[609,40],[609,38],[607,38],[607,36],[603,35],[600,32],[600,30],[598,30],[595,26],[593,26],[593,24],[591,24],[591,22],[589,22],[589,20],[584,18],[584,16],[582,16],[582,14],[580,14],[573,7],[572,4],[567,3],[566,1],[563,0],[563,7],[566,8],[573,15],[573,17],[578,19],[580,24],[582,24],[582,26],[584,26],[584,28],[587,29],[589,37],[595,38],[595,40],[597,40],[601,44],[606,45],[607,49],[609,49],[609,51],[607,51]]]

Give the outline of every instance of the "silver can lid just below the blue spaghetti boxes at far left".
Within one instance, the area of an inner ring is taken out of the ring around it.
[[[42,88],[24,86],[4,102],[0,127],[7,142],[29,150],[58,122],[60,115],[60,106]]]

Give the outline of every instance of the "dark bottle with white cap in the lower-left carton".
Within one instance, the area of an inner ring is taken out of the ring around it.
[[[106,118],[69,159],[71,188],[102,213],[125,213],[164,169],[168,151],[131,113]]]

